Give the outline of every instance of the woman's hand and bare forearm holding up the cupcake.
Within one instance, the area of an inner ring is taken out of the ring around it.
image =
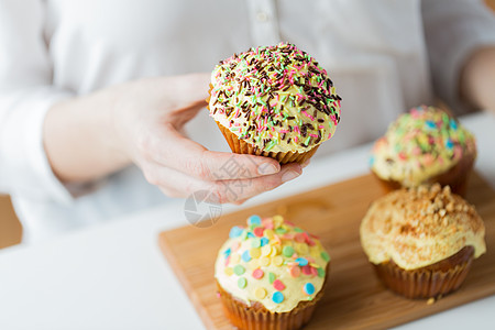
[[[208,82],[206,74],[147,78],[55,106],[45,121],[54,172],[85,182],[133,162],[167,196],[208,190],[220,202],[242,202],[299,176],[298,164],[208,151],[180,133],[206,107]]]

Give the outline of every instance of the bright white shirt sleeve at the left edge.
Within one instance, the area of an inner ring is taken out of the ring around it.
[[[73,96],[52,85],[45,1],[0,1],[0,191],[67,204],[43,147],[45,113]]]

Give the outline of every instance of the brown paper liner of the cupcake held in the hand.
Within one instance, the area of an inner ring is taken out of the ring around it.
[[[206,101],[208,103],[210,101],[211,89],[212,88],[213,88],[213,86],[210,84],[210,89],[208,90],[208,98],[206,99]],[[208,108],[208,110],[210,110],[210,106],[209,105],[208,105],[207,108]],[[310,148],[309,151],[304,152],[304,153],[298,153],[298,152],[286,152],[286,153],[266,152],[266,151],[260,150],[255,145],[251,145],[248,142],[245,142],[243,140],[240,140],[228,128],[224,128],[219,122],[216,121],[216,123],[217,123],[218,128],[220,129],[220,131],[222,132],[223,136],[226,138],[227,143],[229,143],[230,150],[233,153],[237,153],[237,154],[249,154],[249,155],[271,157],[271,158],[274,158],[274,160],[278,161],[278,163],[280,163],[280,164],[288,164],[288,163],[302,164],[306,161],[308,161],[309,158],[311,158],[312,155],[316,153],[316,151],[319,147],[319,145],[314,146],[312,148]]]

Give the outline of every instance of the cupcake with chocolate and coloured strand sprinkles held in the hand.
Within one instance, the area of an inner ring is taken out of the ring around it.
[[[301,164],[336,133],[340,101],[311,56],[280,43],[221,61],[208,108],[232,152]]]

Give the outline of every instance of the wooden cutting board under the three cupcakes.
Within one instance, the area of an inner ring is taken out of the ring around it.
[[[495,294],[495,193],[483,179],[472,177],[466,199],[485,221],[487,253],[474,261],[458,292],[431,305],[386,290],[361,249],[361,219],[381,195],[371,175],[361,176],[227,215],[207,229],[162,232],[160,245],[208,329],[232,329],[216,295],[213,264],[230,228],[251,215],[286,216],[319,235],[332,257],[326,295],[307,330],[389,328]]]

